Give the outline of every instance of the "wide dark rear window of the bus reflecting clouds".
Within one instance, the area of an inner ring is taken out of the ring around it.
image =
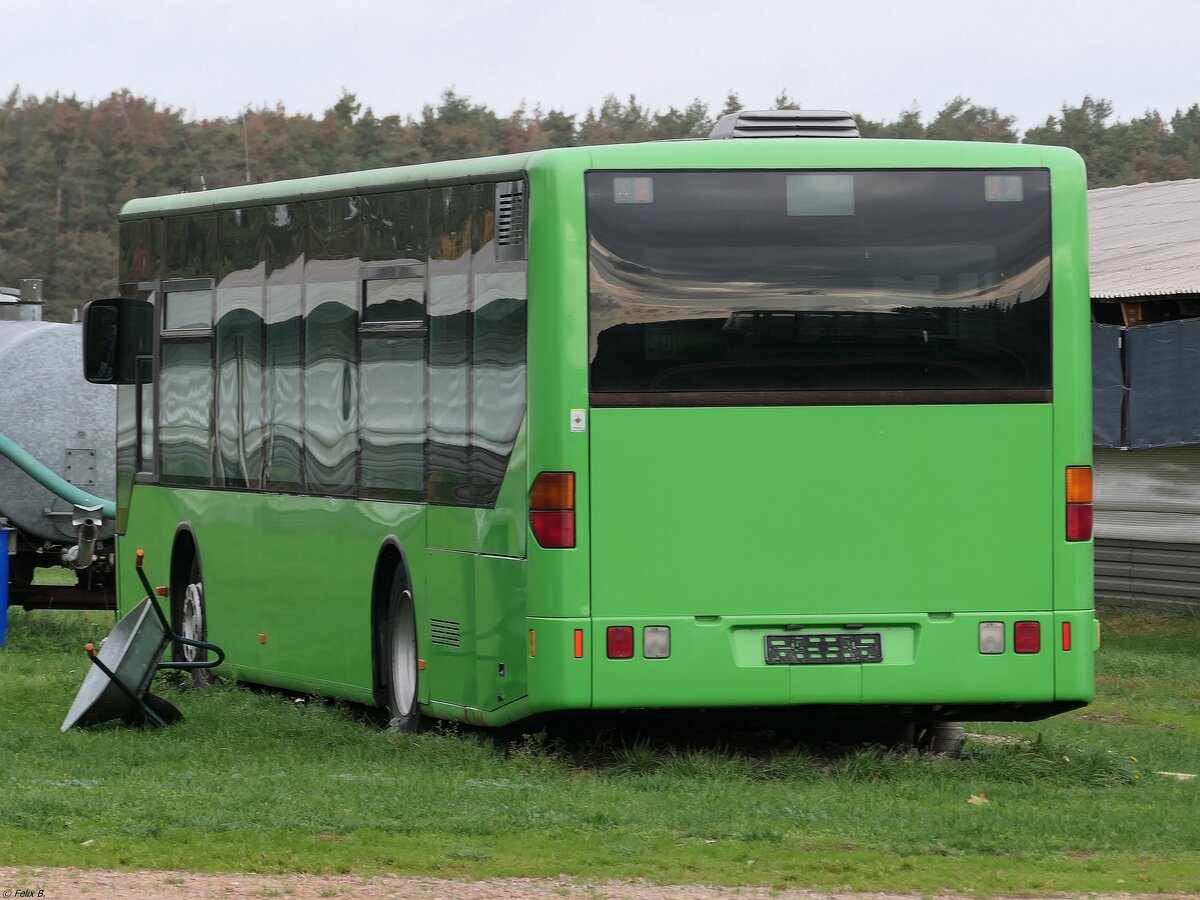
[[[587,187],[594,404],[1050,398],[1043,169]]]

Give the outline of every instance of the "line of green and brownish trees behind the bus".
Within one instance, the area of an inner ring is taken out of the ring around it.
[[[775,108],[799,106],[787,92]],[[379,116],[343,91],[320,115],[282,106],[190,120],[182,110],[125,90],[101,101],[35,97],[14,88],[0,104],[0,284],[44,280],[47,318],[65,320],[84,300],[112,294],[116,212],[133,197],[246,182],[514,154],[554,146],[702,137],[737,112],[730,94],[713,108],[650,109],[608,96],[586,114],[522,104],[508,116],[454,90],[420,116]],[[1170,119],[1147,112],[1110,121],[1108,101],[1063,106],[1024,134],[1014,116],[955,97],[931,118],[919,108],[892,121],[856,116],[864,137],[1002,140],[1074,148],[1088,185],[1200,178],[1200,104]]]

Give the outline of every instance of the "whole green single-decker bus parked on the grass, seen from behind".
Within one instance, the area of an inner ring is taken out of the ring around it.
[[[403,728],[1084,706],[1084,166],[788,115],[127,203],[121,610]]]

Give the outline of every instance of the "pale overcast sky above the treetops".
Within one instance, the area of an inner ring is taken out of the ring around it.
[[[610,94],[884,121],[965,96],[1019,130],[1087,95],[1110,124],[1200,103],[1200,0],[0,0],[0,23],[4,95],[128,89],[190,119],[343,90],[418,118],[446,89],[578,119]]]

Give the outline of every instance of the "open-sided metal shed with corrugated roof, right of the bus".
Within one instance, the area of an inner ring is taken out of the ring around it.
[[[1200,605],[1200,179],[1088,192],[1096,592]]]

